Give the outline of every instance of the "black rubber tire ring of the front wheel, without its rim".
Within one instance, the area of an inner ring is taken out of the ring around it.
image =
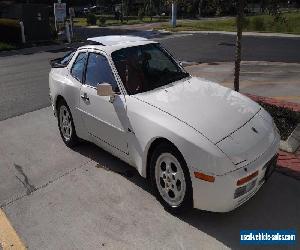
[[[158,157],[162,153],[171,153],[176,159],[179,161],[181,168],[184,172],[184,178],[185,178],[185,183],[186,183],[186,192],[184,195],[184,199],[181,202],[181,204],[177,207],[172,207],[170,206],[160,195],[158,188],[157,188],[157,183],[156,183],[156,178],[155,178],[155,164],[158,159]],[[181,153],[178,151],[178,149],[171,145],[171,144],[160,144],[157,146],[157,148],[154,150],[151,160],[150,160],[150,181],[152,185],[152,189],[158,199],[158,201],[163,205],[163,207],[173,213],[173,214],[180,214],[183,213],[193,207],[193,188],[192,188],[192,182],[191,182],[191,177],[190,177],[190,172],[188,170],[187,164],[182,157]]]

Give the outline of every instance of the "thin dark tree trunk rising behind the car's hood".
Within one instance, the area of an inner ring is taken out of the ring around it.
[[[243,33],[243,17],[245,0],[237,1],[237,18],[236,18],[236,47],[235,47],[235,69],[234,69],[234,90],[240,90],[240,67],[241,67],[241,53],[242,53],[242,33]]]

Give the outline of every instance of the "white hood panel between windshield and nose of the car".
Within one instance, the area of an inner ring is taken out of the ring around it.
[[[215,144],[260,110],[257,103],[238,92],[196,77],[137,94],[135,98],[176,117]]]

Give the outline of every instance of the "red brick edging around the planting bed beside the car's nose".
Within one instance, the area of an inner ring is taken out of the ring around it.
[[[274,105],[277,107],[283,107],[287,109],[300,112],[300,104],[278,101],[270,97],[262,97],[256,95],[246,94],[253,101],[260,101],[266,104]],[[300,152],[288,153],[279,150],[279,157],[277,161],[276,170],[284,175],[291,176],[297,180],[300,180]]]

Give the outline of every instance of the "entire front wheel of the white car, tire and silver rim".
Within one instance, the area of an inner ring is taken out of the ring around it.
[[[193,188],[184,158],[172,144],[159,144],[150,161],[150,181],[158,201],[173,214],[193,207]]]

